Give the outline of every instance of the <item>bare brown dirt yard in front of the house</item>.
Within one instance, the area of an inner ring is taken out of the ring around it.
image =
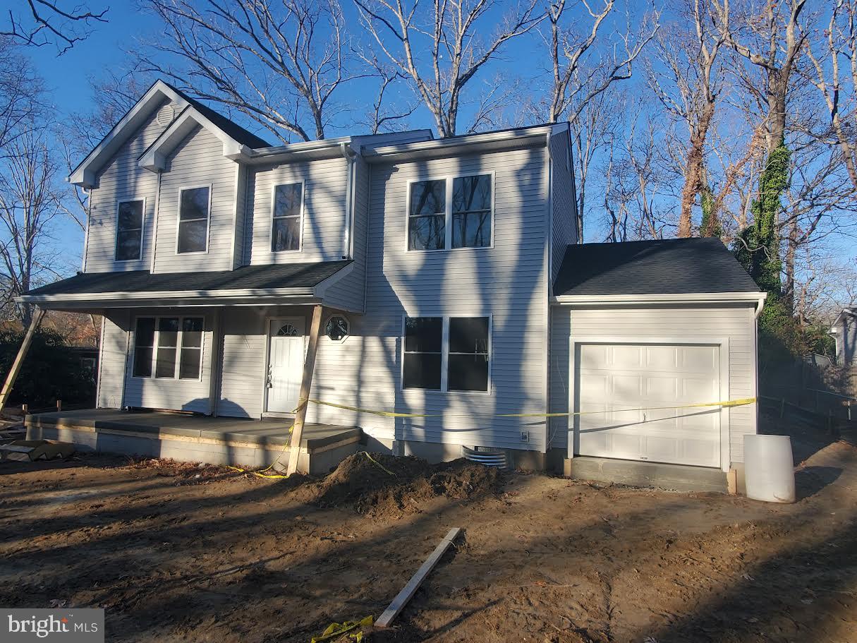
[[[379,616],[459,526],[367,640],[854,642],[857,449],[794,445],[788,506],[364,454],[321,481],[6,463],[0,604],[104,607],[110,641],[309,643]]]

